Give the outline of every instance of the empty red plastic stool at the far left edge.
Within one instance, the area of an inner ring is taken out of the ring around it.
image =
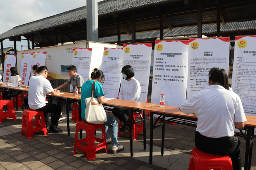
[[[3,111],[4,105],[7,105],[7,111]],[[11,117],[13,121],[16,121],[16,115],[12,100],[0,100],[0,123],[3,123],[4,118]]]

